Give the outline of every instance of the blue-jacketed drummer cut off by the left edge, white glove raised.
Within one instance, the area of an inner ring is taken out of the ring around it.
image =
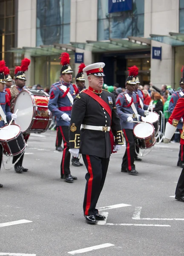
[[[9,96],[4,91],[4,87],[6,84],[5,75],[7,75],[6,72],[7,72],[7,67],[6,67],[5,61],[0,61],[0,127],[7,125],[7,121],[10,121],[11,119],[13,120],[17,119],[17,115],[12,114],[10,112]],[[2,157],[3,157],[3,148],[2,148],[2,145],[0,144],[0,168],[2,164]],[[0,188],[2,187],[3,185],[0,184]]]

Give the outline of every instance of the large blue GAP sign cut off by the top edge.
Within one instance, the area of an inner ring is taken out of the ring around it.
[[[132,0],[109,0],[109,13],[132,11]]]

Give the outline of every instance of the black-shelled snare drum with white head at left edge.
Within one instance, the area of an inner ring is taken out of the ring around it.
[[[6,155],[16,156],[26,149],[26,142],[18,125],[2,127],[0,129],[0,143]]]

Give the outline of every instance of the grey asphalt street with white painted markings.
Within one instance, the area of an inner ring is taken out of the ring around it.
[[[89,225],[82,208],[86,168],[71,165],[78,180],[61,180],[62,153],[55,151],[55,137],[55,131],[31,134],[23,162],[29,172],[1,168],[0,255],[184,254],[184,204],[171,197],[181,173],[178,143],[155,145],[135,162],[138,176],[121,172],[125,146],[112,154],[98,201],[99,213],[108,217]]]

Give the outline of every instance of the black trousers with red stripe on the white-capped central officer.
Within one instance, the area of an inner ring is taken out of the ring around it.
[[[83,201],[83,211],[85,215],[95,215],[98,213],[96,204],[103,189],[109,158],[101,158],[91,155],[82,155],[87,169],[86,189]]]

